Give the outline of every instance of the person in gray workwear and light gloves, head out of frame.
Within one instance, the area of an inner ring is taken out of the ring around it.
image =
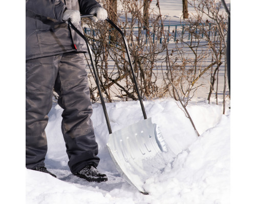
[[[63,109],[61,130],[71,172],[90,182],[107,181],[96,167],[98,144],[90,119],[92,106],[85,70],[86,44],[66,23],[82,32],[80,13],[108,13],[95,0],[26,0],[26,168],[49,173],[45,167],[47,114],[53,88]]]

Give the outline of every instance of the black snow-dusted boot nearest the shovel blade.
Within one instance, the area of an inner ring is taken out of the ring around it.
[[[78,171],[74,175],[85,179],[89,182],[105,182],[108,181],[108,177],[105,174],[100,173],[93,165],[88,165],[82,170]]]

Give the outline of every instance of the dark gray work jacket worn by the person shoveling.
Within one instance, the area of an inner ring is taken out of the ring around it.
[[[86,51],[86,43],[62,15],[65,9],[89,14],[95,7],[101,7],[95,0],[26,0],[26,60]],[[77,29],[82,32],[80,25]]]

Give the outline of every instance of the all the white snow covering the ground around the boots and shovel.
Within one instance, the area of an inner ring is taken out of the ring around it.
[[[172,98],[145,101],[147,117],[160,126],[166,143],[177,155],[162,173],[145,182],[150,195],[139,193],[116,170],[108,150],[108,129],[102,107],[94,104],[92,120],[101,159],[98,169],[108,182],[89,183],[71,174],[62,138],[61,108],[54,105],[47,126],[47,168],[54,177],[26,170],[27,203],[228,203],[230,174],[230,117],[207,101],[191,102],[187,109],[197,137],[181,106]],[[113,132],[143,119],[139,102],[106,104]]]

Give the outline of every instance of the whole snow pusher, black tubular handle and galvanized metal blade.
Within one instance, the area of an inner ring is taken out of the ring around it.
[[[92,16],[96,16],[96,14],[81,15],[81,17]],[[106,21],[108,21],[122,36],[144,117],[144,120],[126,126],[114,133],[112,133],[108,113],[106,112],[106,107],[101,93],[99,79],[94,60],[92,58],[92,50],[89,42],[87,38],[74,27],[70,20],[68,23],[70,27],[79,36],[81,36],[84,41],[86,41],[87,44],[88,53],[95,75],[95,81],[99,91],[106,124],[110,134],[109,141],[106,144],[110,152],[110,156],[121,176],[123,176],[128,183],[137,188],[141,193],[148,194],[143,188],[145,181],[154,174],[160,172],[160,170],[166,166],[163,154],[164,152],[171,150],[169,150],[167,144],[165,143],[159,126],[155,123],[152,123],[151,118],[146,117],[143,101],[139,93],[139,88],[129,53],[129,48],[123,32],[109,18],[106,18]]]

